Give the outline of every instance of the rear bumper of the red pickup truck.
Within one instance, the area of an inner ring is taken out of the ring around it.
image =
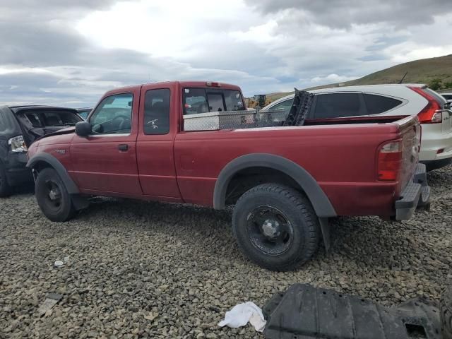
[[[427,171],[424,164],[418,164],[415,175],[396,201],[396,220],[410,220],[416,208],[428,208],[430,186],[427,184]]]

